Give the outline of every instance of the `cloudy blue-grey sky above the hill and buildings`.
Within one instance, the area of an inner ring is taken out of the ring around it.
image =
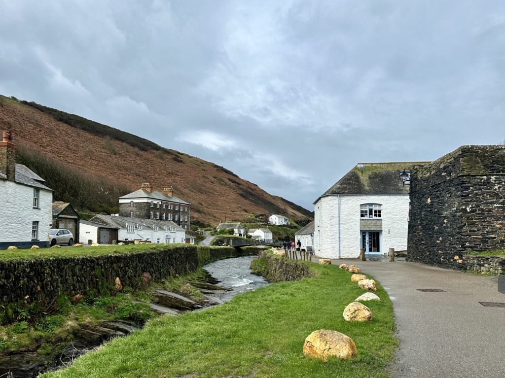
[[[505,139],[505,2],[0,0],[0,93],[313,210],[358,162]]]

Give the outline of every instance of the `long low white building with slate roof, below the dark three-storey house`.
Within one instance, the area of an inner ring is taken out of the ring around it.
[[[117,228],[118,242],[135,240],[157,244],[186,242],[185,230],[172,221],[97,214],[89,222]],[[86,225],[84,224],[84,226]],[[102,240],[98,240],[97,242],[100,243]]]

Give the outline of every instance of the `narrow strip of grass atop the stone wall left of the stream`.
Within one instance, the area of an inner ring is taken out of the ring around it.
[[[49,257],[79,257],[109,255],[114,253],[136,253],[155,251],[173,247],[192,246],[193,244],[128,244],[128,245],[100,245],[99,247],[65,247],[40,249],[12,249],[0,250],[0,261],[19,259],[49,258]]]

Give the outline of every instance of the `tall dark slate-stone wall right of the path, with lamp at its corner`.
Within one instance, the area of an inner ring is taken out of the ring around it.
[[[408,259],[465,269],[463,254],[505,249],[505,147],[463,146],[411,169]]]

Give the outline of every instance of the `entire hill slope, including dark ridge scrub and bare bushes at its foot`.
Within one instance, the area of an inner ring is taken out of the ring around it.
[[[47,180],[55,200],[92,211],[113,210],[118,195],[151,182],[155,190],[173,187],[174,195],[191,202],[192,219],[203,223],[244,221],[250,214],[272,212],[299,224],[312,218],[309,210],[209,161],[79,116],[0,97],[0,129],[12,131],[20,146],[19,162]],[[69,174],[62,175],[65,171]],[[83,182],[90,188],[79,194]]]

